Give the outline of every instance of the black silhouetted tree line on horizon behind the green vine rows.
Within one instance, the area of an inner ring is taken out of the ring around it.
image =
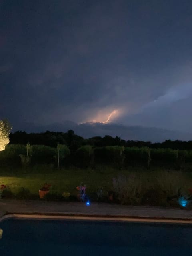
[[[106,135],[104,137],[95,136],[92,138],[85,139],[74,133],[73,130],[68,132],[42,132],[42,133],[26,133],[17,131],[10,134],[10,144],[31,144],[31,145],[45,145],[56,148],[58,144],[65,144],[70,150],[76,151],[81,146],[90,145],[94,147],[104,146],[124,146],[124,147],[148,147],[148,148],[171,148],[174,150],[192,150],[192,140],[181,141],[181,140],[165,140],[162,143],[152,143],[150,141],[134,141],[134,140],[123,140],[120,137]]]

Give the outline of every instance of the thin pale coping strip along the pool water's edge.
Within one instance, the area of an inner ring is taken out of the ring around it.
[[[0,222],[9,218],[15,219],[44,219],[44,220],[94,220],[112,222],[144,222],[144,223],[167,223],[167,224],[192,224],[192,220],[173,220],[155,218],[130,218],[130,217],[94,217],[94,216],[69,216],[69,215],[44,215],[44,214],[6,214],[0,218]]]

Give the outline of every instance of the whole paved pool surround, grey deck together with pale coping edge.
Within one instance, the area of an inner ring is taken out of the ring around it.
[[[192,210],[104,203],[92,203],[87,207],[80,202],[36,202],[35,200],[1,200],[0,220],[2,216],[6,216],[4,218],[36,216],[36,218],[74,220],[192,223]]]

